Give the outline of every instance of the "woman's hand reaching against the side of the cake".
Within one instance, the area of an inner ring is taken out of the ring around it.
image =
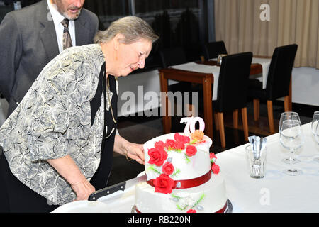
[[[121,137],[121,135],[116,135],[114,151],[121,155],[125,155],[140,164],[144,164],[144,149],[142,144],[130,143],[128,140]]]

